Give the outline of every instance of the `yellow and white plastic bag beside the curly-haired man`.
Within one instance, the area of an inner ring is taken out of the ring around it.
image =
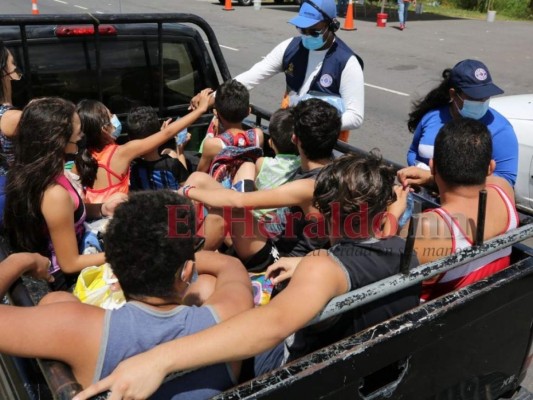
[[[113,288],[117,282],[109,264],[87,267],[80,272],[73,294],[82,303],[114,310],[126,303],[122,290]]]

